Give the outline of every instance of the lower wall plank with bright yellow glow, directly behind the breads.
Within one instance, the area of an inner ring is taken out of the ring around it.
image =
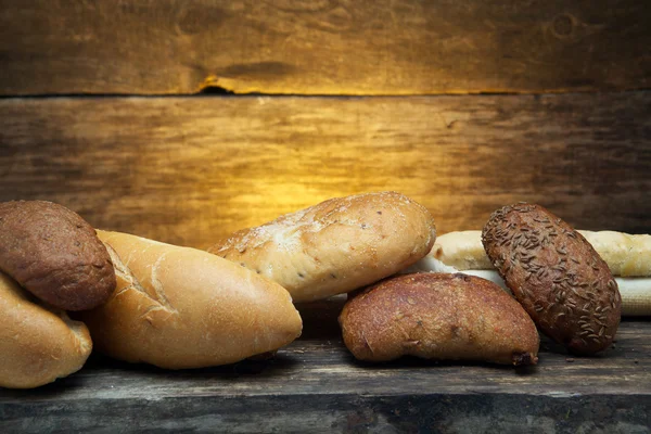
[[[651,92],[0,101],[0,201],[208,247],[333,196],[396,190],[438,233],[518,201],[651,232]]]

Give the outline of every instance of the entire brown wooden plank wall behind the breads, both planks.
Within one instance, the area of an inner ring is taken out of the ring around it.
[[[376,190],[442,233],[515,201],[651,232],[650,22],[631,0],[0,0],[0,201],[197,247]]]

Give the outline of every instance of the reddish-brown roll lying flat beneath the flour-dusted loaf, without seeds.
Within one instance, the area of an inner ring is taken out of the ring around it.
[[[461,273],[384,280],[346,303],[340,324],[360,360],[538,360],[538,331],[522,306],[495,283]]]

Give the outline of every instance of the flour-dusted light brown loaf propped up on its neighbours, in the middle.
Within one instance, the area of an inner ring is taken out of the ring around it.
[[[394,275],[430,252],[432,215],[396,192],[331,199],[257,228],[212,252],[286,289],[294,302],[346,293]]]

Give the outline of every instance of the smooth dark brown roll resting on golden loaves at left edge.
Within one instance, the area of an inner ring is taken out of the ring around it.
[[[0,269],[65,310],[97,307],[116,285],[111,258],[94,229],[51,202],[0,203]]]

